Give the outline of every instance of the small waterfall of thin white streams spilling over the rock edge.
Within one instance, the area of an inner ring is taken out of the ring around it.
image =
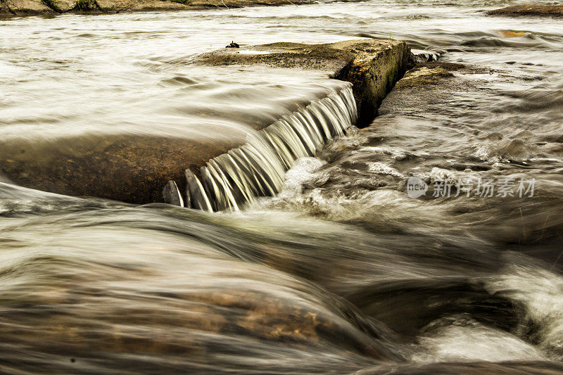
[[[356,120],[352,85],[332,89],[328,96],[249,134],[243,146],[210,159],[201,167],[200,178],[186,170],[184,194],[175,182],[168,182],[165,202],[213,212],[239,210],[257,196],[274,196],[295,160],[315,155]]]

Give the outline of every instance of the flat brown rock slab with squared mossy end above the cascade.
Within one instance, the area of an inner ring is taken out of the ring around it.
[[[403,41],[357,39],[328,44],[272,43],[225,48],[196,58],[203,65],[266,65],[272,68],[324,70],[353,84],[360,117],[367,125],[379,104],[403,76],[410,49]]]

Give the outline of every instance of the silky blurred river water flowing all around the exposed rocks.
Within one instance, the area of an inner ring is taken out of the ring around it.
[[[236,197],[212,197],[223,212],[0,180],[1,371],[562,372],[563,23],[482,12],[510,4],[1,21],[4,147],[250,139],[212,165],[215,176],[239,173],[212,181],[241,183]],[[403,39],[450,72],[422,89],[399,84],[358,130],[342,82],[190,63],[233,39],[356,37]],[[269,123],[284,141],[253,130]],[[430,185],[426,196],[410,198],[409,177]],[[497,183],[492,196],[476,191],[485,180]],[[450,196],[441,182],[453,183]],[[509,182],[514,193],[498,194]]]

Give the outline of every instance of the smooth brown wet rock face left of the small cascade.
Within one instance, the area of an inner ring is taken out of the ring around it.
[[[198,170],[243,141],[242,133],[232,134],[229,141],[133,134],[44,143],[0,141],[0,174],[20,186],[70,196],[163,202],[163,186],[169,180],[177,182],[180,191],[186,189],[186,167]]]

